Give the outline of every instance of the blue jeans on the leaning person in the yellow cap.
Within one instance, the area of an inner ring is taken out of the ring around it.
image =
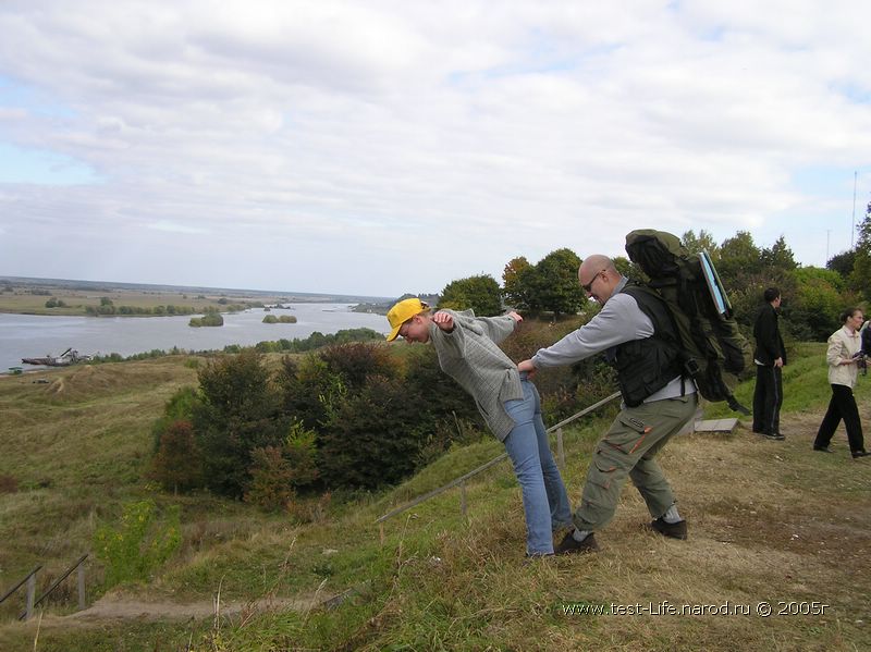
[[[523,491],[526,552],[551,554],[553,531],[572,525],[572,506],[548,445],[538,390],[525,374],[520,376],[520,385],[524,397],[505,402],[505,411],[515,423],[505,438],[505,451]]]

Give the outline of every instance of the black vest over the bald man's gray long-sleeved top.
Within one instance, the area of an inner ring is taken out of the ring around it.
[[[621,291],[631,296],[653,322],[653,335],[631,340],[605,352],[608,362],[617,371],[623,402],[629,407],[643,403],[674,378],[683,374],[679,346],[665,302],[655,291],[627,283]]]

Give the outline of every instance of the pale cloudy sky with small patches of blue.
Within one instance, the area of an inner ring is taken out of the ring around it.
[[[625,234],[850,248],[867,0],[2,0],[0,275],[395,297]]]

